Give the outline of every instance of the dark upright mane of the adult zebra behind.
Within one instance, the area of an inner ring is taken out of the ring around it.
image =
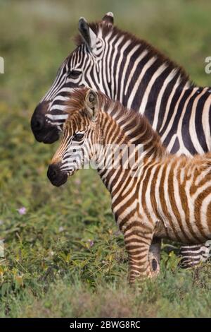
[[[123,36],[122,43],[127,42],[128,40],[132,41],[132,46],[140,45],[140,52],[143,52],[143,50],[148,51],[148,57],[157,57],[157,60],[160,62],[160,66],[162,64],[167,64],[168,68],[173,70],[176,69],[181,78],[181,83],[186,83],[189,82],[190,86],[195,86],[195,83],[190,80],[188,73],[184,70],[182,66],[179,66],[176,62],[172,61],[170,58],[166,57],[162,52],[160,52],[158,49],[153,47],[151,44],[146,42],[146,40],[141,40],[135,35],[133,35],[130,32],[121,30],[120,28],[117,28],[115,25],[110,25],[104,21],[101,22],[95,22],[95,23],[89,23],[89,27],[91,30],[94,31],[96,35],[98,35],[99,30],[102,32],[103,38],[105,38],[110,32],[112,31],[112,35],[119,35],[120,37]],[[77,46],[82,45],[84,43],[84,40],[81,35],[76,35],[75,36],[75,44]]]

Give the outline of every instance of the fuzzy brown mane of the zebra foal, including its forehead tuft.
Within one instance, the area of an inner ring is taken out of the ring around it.
[[[69,114],[66,121],[71,121],[71,115],[84,109],[85,96],[89,88],[75,89],[71,93],[71,97],[66,102],[67,108],[65,112]],[[165,147],[158,133],[153,129],[148,119],[134,111],[134,109],[127,109],[118,100],[110,100],[107,95],[97,92],[99,109],[110,115],[110,117],[120,126],[125,136],[132,140],[134,144],[145,144],[151,147],[151,153],[155,152],[156,155],[165,154]]]

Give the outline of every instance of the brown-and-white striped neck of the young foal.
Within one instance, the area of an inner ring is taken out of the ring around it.
[[[113,195],[122,182],[139,177],[143,168],[167,155],[160,137],[140,114],[132,119],[115,121],[108,113],[101,112],[99,126],[101,147],[97,153],[98,174]],[[139,119],[139,120],[138,120]]]

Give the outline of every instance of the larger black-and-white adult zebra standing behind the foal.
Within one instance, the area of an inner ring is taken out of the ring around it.
[[[113,26],[79,20],[77,48],[63,61],[50,90],[32,116],[37,141],[58,140],[65,100],[73,88],[89,86],[145,114],[171,153],[211,150],[210,88],[198,88],[174,62],[134,35]],[[182,251],[181,251],[182,252]],[[198,263],[200,247],[185,250],[185,266]]]

